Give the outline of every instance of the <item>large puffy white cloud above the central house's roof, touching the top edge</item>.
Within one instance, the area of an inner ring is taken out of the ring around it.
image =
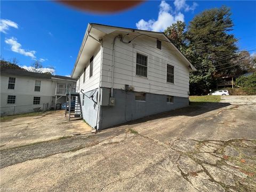
[[[161,1],[157,20],[150,19],[145,21],[141,19],[136,23],[136,27],[142,30],[164,31],[167,27],[171,26],[172,23],[184,21],[185,16],[183,13],[181,13],[181,10],[194,11],[197,3],[194,2],[192,6],[189,6],[186,4],[185,0],[175,0],[174,6],[175,10],[173,11],[170,4],[166,3],[165,1]]]

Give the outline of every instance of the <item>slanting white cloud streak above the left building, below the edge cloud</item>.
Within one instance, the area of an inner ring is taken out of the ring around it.
[[[5,38],[4,41],[6,44],[9,44],[11,46],[11,50],[16,53],[20,53],[22,55],[28,56],[32,59],[35,59],[36,51],[29,51],[21,48],[21,44],[17,42],[17,39],[14,37],[11,38]]]

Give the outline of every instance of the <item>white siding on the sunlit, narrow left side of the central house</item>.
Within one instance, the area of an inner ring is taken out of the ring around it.
[[[93,72],[92,76],[90,77],[90,59],[86,61],[84,67],[86,66],[85,70],[85,82],[83,82],[84,78],[84,71],[79,76],[80,81],[77,80],[77,86],[79,87],[79,92],[83,89],[85,92],[91,91],[93,89],[97,89],[99,87],[100,81],[100,62],[101,62],[101,50],[100,46],[97,48],[93,55]],[[78,79],[79,79],[78,78]]]

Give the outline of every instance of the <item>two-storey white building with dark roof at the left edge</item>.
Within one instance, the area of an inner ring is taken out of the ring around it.
[[[1,116],[55,108],[66,102],[69,86],[76,86],[75,79],[1,68]]]

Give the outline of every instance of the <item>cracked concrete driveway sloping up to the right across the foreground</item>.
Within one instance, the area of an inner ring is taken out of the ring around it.
[[[1,150],[1,189],[255,191],[255,102],[204,103]]]

